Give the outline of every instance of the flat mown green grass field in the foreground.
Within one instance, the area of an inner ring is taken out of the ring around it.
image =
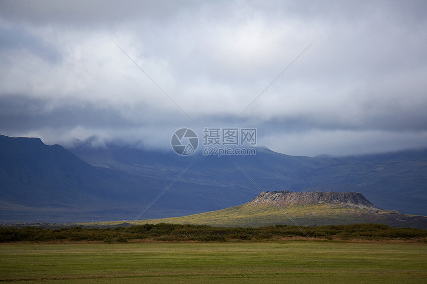
[[[0,244],[18,283],[426,283],[427,244],[135,242]]]

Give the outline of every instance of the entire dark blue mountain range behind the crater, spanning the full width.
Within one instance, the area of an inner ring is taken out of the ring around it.
[[[379,208],[427,215],[426,149],[324,158],[256,151],[182,157],[123,143],[65,149],[0,135],[0,222],[133,220],[157,196],[141,219],[184,216],[284,190],[357,191]]]

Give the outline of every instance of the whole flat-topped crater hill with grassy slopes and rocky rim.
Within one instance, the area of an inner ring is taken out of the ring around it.
[[[375,207],[358,192],[262,192],[252,201],[213,212],[142,220],[135,224],[204,224],[219,227],[267,225],[323,226],[377,223],[427,229],[426,216],[405,215]]]

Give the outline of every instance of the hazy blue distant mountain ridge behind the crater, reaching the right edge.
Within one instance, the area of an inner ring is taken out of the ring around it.
[[[222,208],[230,204],[232,197],[226,195],[230,192],[242,193],[242,199],[238,196],[233,199],[233,205],[237,205],[248,202],[261,191],[356,191],[379,208],[427,215],[427,149],[309,158],[258,147],[254,156],[216,157],[197,153],[186,159],[172,151],[153,152],[119,144],[91,147],[90,143],[81,142],[68,150],[94,166],[147,173],[169,180],[190,163],[189,159],[195,159],[197,162],[180,180],[183,184],[191,181],[201,187],[222,188]]]

